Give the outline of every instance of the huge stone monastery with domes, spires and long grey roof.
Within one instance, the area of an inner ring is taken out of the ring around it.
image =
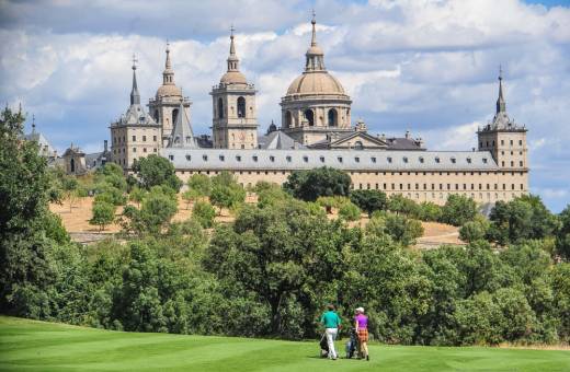
[[[212,92],[212,136],[196,137],[192,102],[174,82],[170,50],[162,85],[140,104],[133,66],[133,90],[126,113],[111,125],[111,154],[129,172],[133,161],[149,154],[169,159],[178,176],[232,173],[243,186],[260,181],[282,184],[296,170],[331,166],[347,172],[355,189],[402,194],[417,201],[444,204],[451,194],[478,202],[510,200],[528,191],[526,128],[511,120],[502,75],[494,118],[479,128],[477,151],[428,151],[421,139],[368,133],[351,120],[351,97],[327,71],[317,44],[315,18],[305,70],[281,100],[282,126],[259,133],[255,86],[240,72],[233,32],[228,69]]]

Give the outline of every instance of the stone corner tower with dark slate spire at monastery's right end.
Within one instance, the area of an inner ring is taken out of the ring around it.
[[[479,151],[491,152],[502,171],[528,172],[526,127],[512,120],[506,114],[503,95],[503,75],[499,70],[499,97],[493,120],[477,131]]]

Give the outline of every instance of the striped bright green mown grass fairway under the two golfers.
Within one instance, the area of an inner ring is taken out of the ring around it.
[[[369,362],[317,354],[316,341],[122,333],[0,316],[0,371],[570,371],[570,352],[557,350],[372,345]]]

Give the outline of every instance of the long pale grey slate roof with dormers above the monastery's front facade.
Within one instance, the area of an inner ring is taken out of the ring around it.
[[[160,150],[178,170],[310,170],[332,166],[351,171],[491,171],[498,165],[488,151],[377,150]]]

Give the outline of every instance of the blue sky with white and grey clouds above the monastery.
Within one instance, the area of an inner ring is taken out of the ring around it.
[[[301,72],[310,9],[328,69],[373,132],[410,130],[430,150],[469,150],[492,118],[499,65],[508,112],[528,131],[531,189],[570,202],[570,3],[520,0],[8,1],[0,0],[0,100],[35,115],[60,151],[98,151],[125,112],[130,58],[142,101],[161,82],[167,38],[175,82],[209,132],[208,92],[237,28],[262,130]]]

